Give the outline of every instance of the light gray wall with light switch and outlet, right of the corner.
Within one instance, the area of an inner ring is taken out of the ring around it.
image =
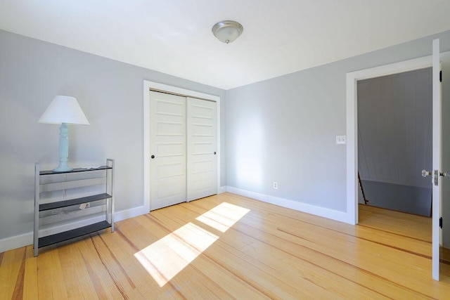
[[[347,72],[428,56],[437,37],[449,51],[447,31],[226,91],[227,184],[346,211]]]

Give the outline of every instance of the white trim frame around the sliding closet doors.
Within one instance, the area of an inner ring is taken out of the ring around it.
[[[220,193],[220,97],[181,89],[158,82],[143,81],[143,207],[150,211],[150,89],[183,96],[212,100],[217,103],[217,193]]]

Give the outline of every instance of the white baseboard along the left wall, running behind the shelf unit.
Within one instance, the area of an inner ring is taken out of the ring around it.
[[[123,211],[116,211],[114,213],[114,221],[122,221],[125,219],[133,218],[134,216],[141,216],[141,214],[148,214],[148,211],[145,207],[135,207],[132,209],[125,209]],[[103,218],[104,219],[104,218]],[[66,226],[58,226],[56,228],[51,228],[44,231],[44,235],[51,235],[53,233],[58,233],[63,230],[70,230],[75,227],[86,226],[91,223],[95,223],[101,221],[98,217],[94,217],[92,219],[86,219],[82,222],[70,223]],[[33,232],[24,233],[22,235],[15,235],[13,237],[6,237],[0,240],[0,253],[6,252],[8,250],[17,249],[20,247],[25,247],[29,244],[33,243]]]

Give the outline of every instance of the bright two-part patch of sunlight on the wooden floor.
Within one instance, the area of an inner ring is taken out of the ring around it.
[[[198,216],[196,220],[224,233],[249,211],[250,209],[223,202]],[[210,231],[189,222],[136,252],[134,256],[158,285],[163,287],[218,238]]]

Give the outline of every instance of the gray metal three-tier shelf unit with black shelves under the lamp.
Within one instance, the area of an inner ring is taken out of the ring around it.
[[[114,159],[64,172],[34,164],[34,256],[40,247],[106,228],[114,232]]]

